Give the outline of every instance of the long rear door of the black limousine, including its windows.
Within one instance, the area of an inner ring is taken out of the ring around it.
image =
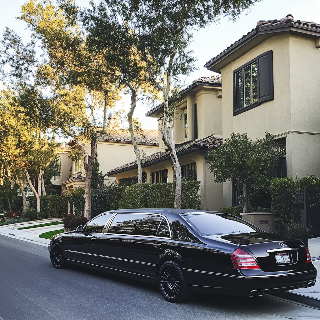
[[[117,213],[108,232],[99,238],[99,265],[153,276],[156,258],[170,240],[165,226],[169,229],[158,214]]]

